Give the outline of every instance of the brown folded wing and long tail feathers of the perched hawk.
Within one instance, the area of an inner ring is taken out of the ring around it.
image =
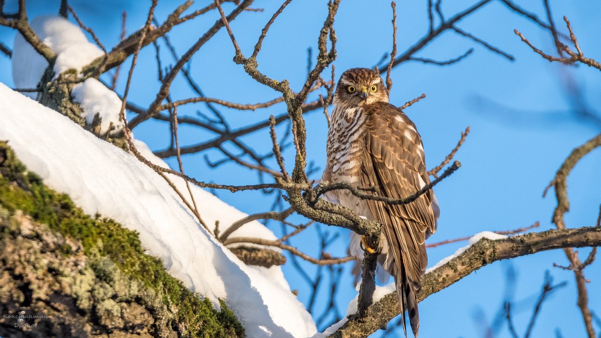
[[[415,125],[388,103],[364,106],[363,113],[367,120],[362,183],[377,186],[375,194],[383,197],[404,198],[415,194],[421,182],[430,182]],[[389,272],[397,284],[401,310],[404,310],[403,300],[407,302],[415,336],[419,328],[416,293],[421,289],[419,278],[427,266],[424,242],[427,230],[430,233],[436,230],[432,198],[430,190],[408,204],[366,200],[373,217],[383,224],[389,254],[394,260]]]

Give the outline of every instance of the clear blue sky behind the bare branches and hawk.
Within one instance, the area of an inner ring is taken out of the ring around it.
[[[7,7],[16,1],[8,1]],[[56,13],[59,1],[28,1],[29,17]],[[99,35],[108,48],[118,42],[120,13],[127,11],[127,31],[132,32],[144,24],[147,1],[71,1],[82,20]],[[198,2],[192,8],[202,7]],[[159,22],[177,6],[177,1],[160,2],[156,11]],[[232,24],[240,48],[250,54],[261,28],[280,5],[275,1],[257,1],[253,6],[264,8],[263,12],[246,12]],[[471,5],[471,2],[442,3],[447,17]],[[540,2],[521,4],[542,19],[545,11]],[[232,5],[224,6],[225,11]],[[301,88],[307,72],[307,48],[316,49],[317,34],[325,19],[325,1],[293,1],[273,23],[263,50],[258,57],[259,69],[275,79],[288,79],[293,89]],[[585,55],[601,60],[598,25],[601,3],[598,1],[552,1],[552,13],[561,31],[565,32],[562,17],[572,22],[575,34]],[[421,2],[398,2],[398,50],[405,51],[427,32],[426,5]],[[218,19],[217,13],[207,13],[171,33],[172,41],[182,54],[206,29]],[[392,45],[391,10],[387,1],[343,1],[336,17],[338,58],[335,67],[338,76],[350,67],[371,67],[380,60]],[[566,77],[572,78],[581,89],[585,104],[601,116],[601,76],[599,70],[586,66],[564,67],[549,63],[534,54],[513,33],[517,28],[530,41],[545,51],[554,50],[549,34],[534,23],[511,13],[501,1],[493,1],[458,26],[483,38],[492,45],[513,55],[509,61],[488,51],[473,41],[448,31],[430,43],[416,56],[435,60],[448,60],[463,54],[470,48],[474,52],[465,60],[451,66],[433,66],[417,61],[403,63],[392,71],[394,85],[391,102],[403,105],[407,100],[426,93],[424,100],[406,109],[415,121],[423,138],[428,167],[434,167],[454,147],[459,134],[466,126],[471,133],[457,153],[462,168],[449,179],[436,186],[441,204],[439,230],[430,241],[472,235],[484,230],[509,230],[528,226],[540,221],[538,230],[553,227],[551,214],[555,206],[553,194],[542,198],[542,191],[570,151],[599,133],[601,125],[577,117],[567,98]],[[0,27],[0,41],[11,46],[14,32]],[[166,48],[162,47],[163,62],[173,63]],[[220,31],[194,56],[191,72],[207,96],[240,103],[255,103],[277,96],[270,88],[254,82],[231,58],[234,49],[225,31]],[[315,57],[316,52],[313,53]],[[129,67],[130,61],[126,62]],[[121,93],[125,78],[117,90]],[[326,70],[325,75],[329,74]],[[0,56],[0,81],[12,85],[10,60]],[[147,106],[159,88],[156,79],[154,49],[141,52],[139,66],[133,76],[130,99]],[[176,79],[171,88],[177,99],[194,96],[182,78]],[[312,96],[314,99],[316,96]],[[207,112],[205,106],[180,108],[180,114],[194,115],[197,110]],[[276,105],[260,111],[235,111],[222,109],[232,127],[244,126],[266,119],[269,114],[285,112],[284,105]],[[308,156],[319,167],[325,164],[325,139],[327,125],[322,112],[307,115]],[[283,135],[286,125],[278,128]],[[147,121],[135,129],[137,138],[148,143],[151,149],[160,150],[168,145],[168,127],[164,123]],[[182,126],[182,144],[194,144],[207,140],[208,134]],[[269,134],[266,130],[243,138],[246,143],[260,150],[270,151]],[[213,161],[221,159],[218,152],[210,150],[207,156]],[[293,164],[293,153],[284,153],[288,167]],[[172,165],[174,161],[170,162]],[[237,165],[226,164],[218,169],[209,168],[203,155],[185,156],[186,173],[198,179],[238,184],[254,183],[254,173]],[[275,163],[271,163],[276,167]],[[570,227],[593,226],[601,203],[599,167],[601,152],[596,150],[583,159],[573,170],[568,181],[570,212],[566,221]],[[320,177],[321,172],[313,175]],[[269,209],[273,197],[254,192],[228,194],[218,192],[219,197],[239,209],[252,213]],[[300,218],[297,221],[302,221]],[[272,224],[278,233],[279,225]],[[326,229],[324,227],[323,229]],[[331,233],[340,232],[332,248],[335,256],[344,255],[347,234],[343,230],[327,228]],[[537,230],[537,231],[538,231]],[[319,254],[316,236],[308,231],[297,236],[293,242],[299,248],[316,256]],[[430,265],[453,253],[465,243],[444,245],[429,250]],[[585,257],[589,250],[580,250]],[[583,258],[584,259],[584,258]],[[540,293],[546,270],[551,271],[555,282],[567,281],[567,287],[558,290],[543,305],[532,336],[555,336],[558,328],[564,337],[585,335],[582,318],[576,306],[576,289],[572,272],[553,268],[552,264],[567,265],[562,251],[538,253],[520,257],[511,262],[498,262],[469,275],[457,284],[439,292],[420,304],[422,337],[480,337],[481,327],[474,318],[492,321],[502,306],[505,275],[507,270],[516,271],[516,287],[512,294],[516,301],[514,324],[522,333],[528,324],[530,313]],[[311,267],[310,267],[311,269]],[[350,265],[345,266],[347,274]],[[293,289],[299,289],[299,298],[307,301],[308,289],[291,265],[284,267]],[[591,280],[590,306],[601,315],[601,269],[599,262],[587,268],[585,275]],[[341,281],[338,293],[340,312],[346,312],[346,304],[355,295],[350,277]],[[320,293],[319,306],[327,301],[326,290]],[[319,311],[318,311],[319,315]],[[601,330],[600,325],[596,326]],[[379,337],[380,333],[374,334]],[[505,323],[498,333],[508,337]]]

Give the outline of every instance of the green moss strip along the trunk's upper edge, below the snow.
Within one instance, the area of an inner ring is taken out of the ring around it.
[[[144,254],[138,233],[109,218],[90,217],[66,194],[43,185],[41,178],[26,171],[6,143],[0,142],[0,206],[14,213],[22,210],[35,221],[81,242],[87,256],[107,257],[130,278],[161,296],[175,320],[188,329],[183,336],[242,337],[245,331],[234,313],[220,300],[221,310],[182,281],[168,274],[160,259]],[[69,245],[62,248],[70,254]],[[96,266],[95,273],[102,275]],[[105,274],[108,278],[111,274]],[[106,304],[105,304],[106,305]]]

